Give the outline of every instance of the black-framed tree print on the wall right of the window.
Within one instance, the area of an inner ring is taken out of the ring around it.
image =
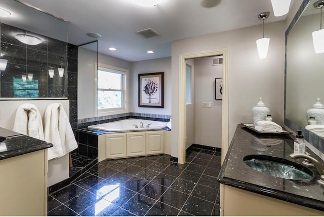
[[[138,106],[164,107],[164,72],[138,75]]]

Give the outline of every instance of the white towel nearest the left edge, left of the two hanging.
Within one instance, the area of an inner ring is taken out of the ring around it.
[[[42,116],[36,105],[25,103],[17,108],[13,131],[44,140]]]

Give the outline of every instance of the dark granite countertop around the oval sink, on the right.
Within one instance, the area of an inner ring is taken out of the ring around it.
[[[264,144],[269,142],[265,139],[271,139],[271,143],[274,145],[265,146]],[[312,157],[324,163],[307,147],[306,151]],[[314,178],[290,180],[256,171],[243,161],[243,158],[247,155],[268,155],[301,164],[303,159],[295,160],[289,156],[291,153],[293,153],[293,139],[290,136],[261,136],[239,124],[218,175],[218,182],[324,211],[324,188],[317,183],[319,174],[314,167],[308,167],[313,171]]]

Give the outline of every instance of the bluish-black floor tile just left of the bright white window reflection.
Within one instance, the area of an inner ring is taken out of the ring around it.
[[[73,211],[80,213],[86,210],[89,206],[92,206],[97,202],[97,196],[88,191],[85,191],[71,200],[64,203],[67,207]]]

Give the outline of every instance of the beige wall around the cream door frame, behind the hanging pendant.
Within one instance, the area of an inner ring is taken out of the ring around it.
[[[268,56],[259,59],[256,40],[262,25],[203,35],[172,43],[172,150],[178,156],[179,55],[218,48],[229,48],[229,141],[236,125],[251,123],[251,109],[263,97],[273,121],[284,118],[284,61],[286,21],[265,24],[270,38]]]

